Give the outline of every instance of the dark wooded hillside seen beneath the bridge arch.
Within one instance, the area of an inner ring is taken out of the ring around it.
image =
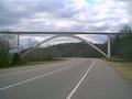
[[[106,45],[96,44],[101,50],[106,50]],[[34,57],[35,56],[35,57]],[[64,43],[48,46],[46,48],[38,47],[26,55],[31,61],[43,61],[50,57],[102,57],[102,55],[86,43]],[[37,58],[36,58],[37,57]]]

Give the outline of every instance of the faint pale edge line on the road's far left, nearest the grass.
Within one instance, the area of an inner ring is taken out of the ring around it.
[[[54,66],[48,66],[48,67],[54,67]],[[48,68],[48,67],[28,68],[28,69],[25,69],[25,70],[20,70],[20,72],[12,72],[12,73],[2,74],[2,75],[0,75],[0,77],[2,77],[2,76],[8,76],[8,75],[20,74],[20,73],[25,73],[25,72],[32,72],[32,70],[42,69],[42,68]]]

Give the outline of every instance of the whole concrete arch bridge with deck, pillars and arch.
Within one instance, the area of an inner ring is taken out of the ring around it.
[[[51,37],[42,41],[41,43],[32,46],[30,50],[28,50],[24,54],[22,54],[22,56],[26,55],[29,52],[31,52],[32,50],[38,47],[40,45],[42,45],[43,43],[46,43],[51,40],[54,38],[58,38],[58,37],[72,37],[72,38],[76,38],[79,40],[81,42],[85,42],[87,44],[89,44],[91,47],[94,47],[96,51],[98,51],[99,53],[101,53],[105,57],[110,58],[111,57],[111,35],[119,35],[119,34],[123,34],[123,33],[88,33],[88,32],[0,32],[0,33],[4,33],[4,34],[16,34],[18,35],[18,53],[20,52],[20,35],[23,34],[53,34]],[[97,35],[107,35],[108,36],[108,50],[107,53],[105,53],[102,50],[100,50],[98,46],[94,45],[91,42],[89,42],[88,40],[85,40],[80,36],[77,36],[76,34],[97,34]]]

